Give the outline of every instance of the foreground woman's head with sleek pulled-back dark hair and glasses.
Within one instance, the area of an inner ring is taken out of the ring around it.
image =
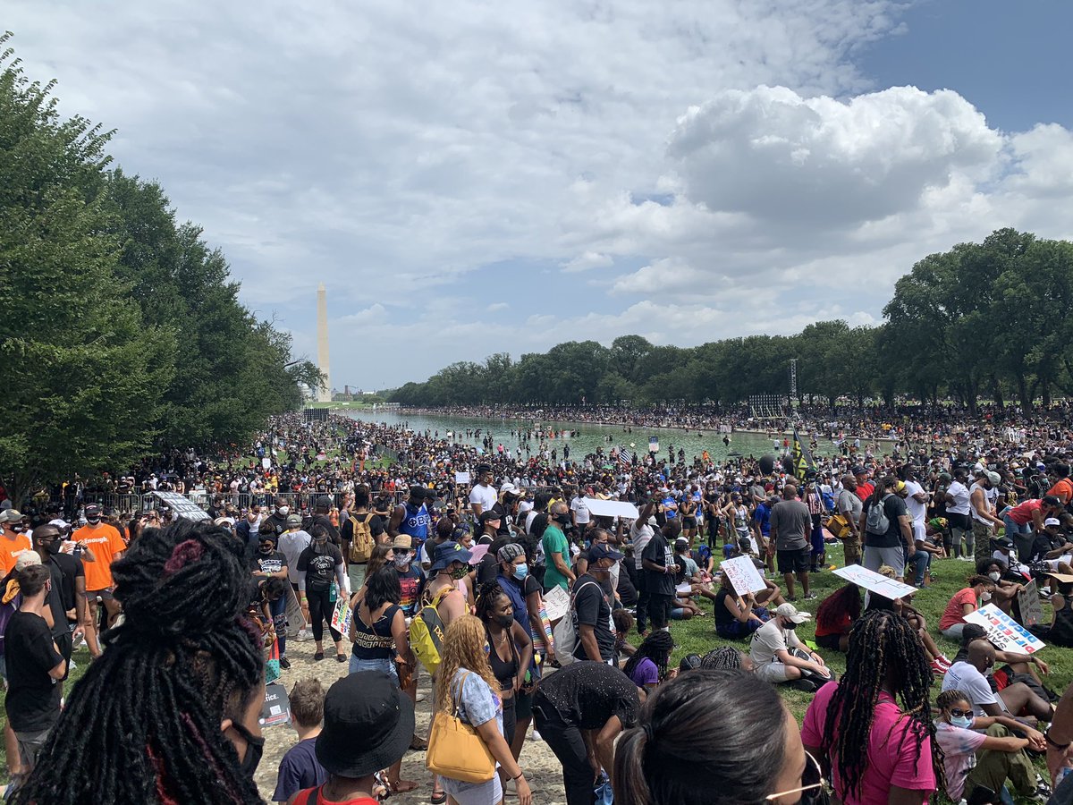
[[[615,752],[620,805],[789,805],[823,785],[793,714],[751,674],[679,674],[645,703],[640,721]]]

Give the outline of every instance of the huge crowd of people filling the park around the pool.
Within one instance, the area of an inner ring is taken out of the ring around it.
[[[1073,441],[1047,422],[951,424],[926,447],[848,444],[803,470],[789,449],[553,459],[539,437],[523,457],[285,416],[248,451],[173,451],[43,491],[19,501],[25,514],[4,501],[10,794],[260,802],[258,716],[266,680],[286,673],[299,741],[278,802],[368,805],[427,786],[433,804],[529,805],[538,737],[568,805],[796,803],[828,789],[843,803],[1045,799],[1031,758],[1064,774],[1073,692],[1056,701],[1037,655],[1000,650],[966,616],[994,603],[1024,620],[1032,584],[1054,613],[1034,628],[1073,645]],[[205,517],[104,497],[135,491],[193,496]],[[623,502],[636,516],[600,506]],[[966,586],[935,625],[908,595],[862,599],[847,584],[819,601],[810,581],[834,545],[918,589],[935,562],[964,561]],[[720,569],[738,557],[764,589],[738,592]],[[796,629],[811,601],[810,644]],[[708,609],[712,633],[740,649],[674,665],[671,621]],[[326,692],[288,657],[296,627],[313,662],[348,665]],[[61,706],[82,640],[92,659]],[[804,726],[780,685],[813,696]],[[427,752],[426,781],[402,778],[408,750]],[[1073,801],[1073,782],[1054,796]]]

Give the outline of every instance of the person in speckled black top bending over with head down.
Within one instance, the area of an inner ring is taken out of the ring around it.
[[[633,682],[600,662],[575,662],[541,682],[534,722],[562,765],[567,805],[592,805],[599,771],[612,771],[615,740],[640,707]]]

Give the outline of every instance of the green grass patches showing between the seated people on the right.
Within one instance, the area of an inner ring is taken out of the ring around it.
[[[841,545],[828,545],[827,567],[831,567],[832,565],[836,567],[842,566]],[[918,610],[925,618],[927,618],[928,631],[931,632],[931,635],[936,639],[936,643],[939,645],[940,649],[942,649],[943,654],[945,654],[950,659],[954,658],[954,655],[957,653],[958,645],[939,634],[939,618],[942,615],[943,610],[946,608],[946,603],[955,592],[965,587],[966,577],[972,574],[974,570],[974,566],[967,561],[958,561],[956,559],[932,561],[931,571],[935,575],[935,583],[930,587],[925,587],[913,596],[913,606]],[[784,586],[781,576],[776,581],[780,586]],[[795,605],[798,610],[812,613],[813,616],[813,620],[802,624],[797,627],[797,634],[802,640],[812,640],[814,636],[814,617],[820,602],[831,592],[834,592],[836,589],[846,584],[844,580],[835,575],[829,570],[822,573],[813,573],[810,577],[810,582],[811,591],[817,595],[815,600],[802,600],[800,585],[797,585],[796,590],[798,600]],[[784,588],[783,595],[785,595]],[[723,640],[716,634],[715,617],[711,615],[711,601],[708,601],[707,599],[701,599],[701,606],[704,609],[705,617],[672,623],[671,632],[675,638],[675,644],[678,646],[672,657],[672,662],[675,665],[677,665],[678,661],[687,654],[700,654],[703,656],[705,653],[721,645],[734,645],[744,652],[749,650],[748,641]],[[1049,623],[1050,608],[1046,602],[1043,604],[1043,616],[1044,621]],[[633,634],[630,642],[636,645],[638,640],[637,635]],[[820,649],[820,655],[832,668],[832,670],[838,674],[838,676],[842,675],[846,671],[846,655],[824,649]],[[1041,677],[1043,679],[1043,684],[1055,692],[1061,694],[1062,691],[1065,690],[1067,686],[1073,682],[1073,648],[1047,646],[1047,648],[1040,653],[1040,658],[1050,667],[1049,675]],[[939,694],[941,686],[942,680],[940,677],[936,679],[932,686],[932,704],[935,704],[935,697]],[[782,694],[783,701],[787,702],[791,712],[797,717],[798,723],[802,722],[805,718],[805,711],[808,707],[809,702],[812,701],[811,694],[798,690],[792,690],[787,686],[781,686],[779,692]],[[1038,767],[1039,771],[1046,776],[1046,766],[1042,759],[1038,761]],[[934,802],[945,803],[947,800],[943,796],[939,796],[934,800]],[[1025,802],[1030,801],[1026,800]]]

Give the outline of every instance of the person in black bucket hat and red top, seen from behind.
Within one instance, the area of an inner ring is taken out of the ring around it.
[[[314,741],[327,779],[294,805],[377,805],[377,772],[397,764],[413,734],[413,704],[384,674],[361,671],[328,688]]]

